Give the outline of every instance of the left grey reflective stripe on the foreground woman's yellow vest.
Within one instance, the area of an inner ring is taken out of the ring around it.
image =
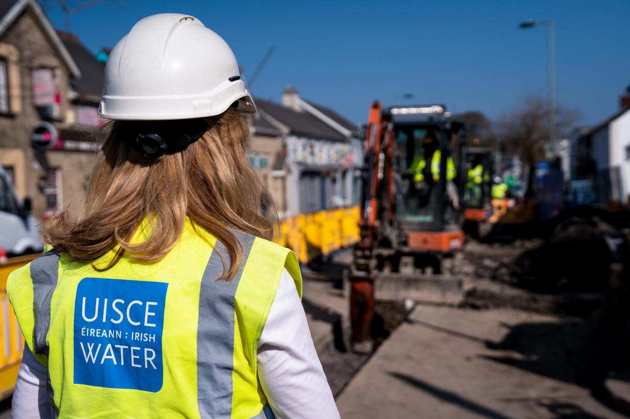
[[[33,281],[33,315],[35,326],[33,327],[33,352],[49,355],[49,347],[46,337],[50,328],[50,300],[52,293],[57,288],[59,281],[59,257],[60,253],[52,249],[31,262],[31,281]],[[59,410],[55,406],[52,384],[50,384],[50,372],[46,381],[46,393],[53,417]]]

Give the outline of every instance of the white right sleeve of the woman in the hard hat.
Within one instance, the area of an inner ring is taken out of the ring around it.
[[[258,344],[258,378],[278,419],[335,419],[339,412],[285,269]]]

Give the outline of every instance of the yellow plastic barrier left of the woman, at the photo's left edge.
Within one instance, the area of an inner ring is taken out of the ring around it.
[[[18,320],[6,296],[6,279],[11,272],[38,256],[14,257],[4,264],[0,263],[0,399],[13,393],[24,349],[24,338]]]

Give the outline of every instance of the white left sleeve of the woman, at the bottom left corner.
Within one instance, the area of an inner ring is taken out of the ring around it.
[[[39,362],[25,345],[22,363],[15,382],[11,418],[50,419],[52,410],[46,394],[48,369]]]

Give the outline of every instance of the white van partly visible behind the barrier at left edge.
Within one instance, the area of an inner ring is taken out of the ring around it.
[[[30,213],[30,198],[18,199],[13,182],[0,166],[0,247],[9,257],[42,251],[39,228]]]

